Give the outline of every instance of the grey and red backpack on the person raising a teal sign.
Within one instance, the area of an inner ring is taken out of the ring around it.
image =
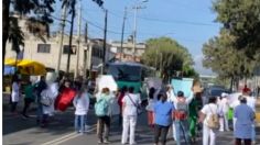
[[[175,110],[175,119],[176,120],[186,120],[187,119],[187,113],[188,113],[188,107],[187,103],[185,102],[185,99],[177,99],[176,103],[176,110]]]

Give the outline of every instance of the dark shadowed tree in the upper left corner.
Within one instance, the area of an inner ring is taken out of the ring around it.
[[[4,57],[6,57],[6,44],[8,40],[13,40],[12,43],[15,43],[15,45],[23,45],[23,34],[18,34],[20,31],[19,26],[10,31],[10,26],[14,22],[14,18],[12,14],[10,14],[10,7],[12,7],[12,10],[20,15],[26,15],[30,14],[28,19],[28,26],[29,31],[33,34],[42,37],[42,30],[47,32],[48,34],[48,24],[53,22],[51,19],[51,13],[54,12],[52,5],[55,3],[55,0],[3,0],[2,2],[2,68],[4,69]],[[11,18],[12,16],[12,18]],[[18,23],[18,22],[17,22]],[[45,26],[46,29],[39,29],[39,26]],[[13,34],[11,34],[13,33]],[[15,34],[18,35],[15,35]],[[12,36],[11,38],[9,36]],[[14,38],[18,36],[18,38]],[[14,42],[14,40],[20,40],[18,42]],[[2,71],[4,71],[2,69]]]

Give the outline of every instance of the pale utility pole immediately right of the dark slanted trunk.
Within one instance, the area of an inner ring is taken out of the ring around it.
[[[77,27],[77,51],[76,51],[76,66],[75,66],[75,74],[74,74],[74,78],[78,77],[78,60],[79,60],[79,47],[80,47],[80,29],[82,29],[82,2],[79,1],[78,4],[78,27]]]

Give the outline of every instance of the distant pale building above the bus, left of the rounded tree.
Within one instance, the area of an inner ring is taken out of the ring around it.
[[[111,52],[116,53],[116,58],[121,60],[134,60],[140,62],[142,54],[145,52],[145,44],[138,43],[136,44],[136,54],[133,49],[132,40],[129,38],[127,42],[123,42],[121,48],[121,42],[111,42]]]

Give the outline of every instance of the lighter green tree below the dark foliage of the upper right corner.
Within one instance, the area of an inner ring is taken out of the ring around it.
[[[256,62],[248,58],[243,51],[236,49],[234,41],[236,37],[223,30],[219,36],[203,46],[203,65],[220,78],[231,78],[231,85],[235,79],[250,77],[256,66]]]

